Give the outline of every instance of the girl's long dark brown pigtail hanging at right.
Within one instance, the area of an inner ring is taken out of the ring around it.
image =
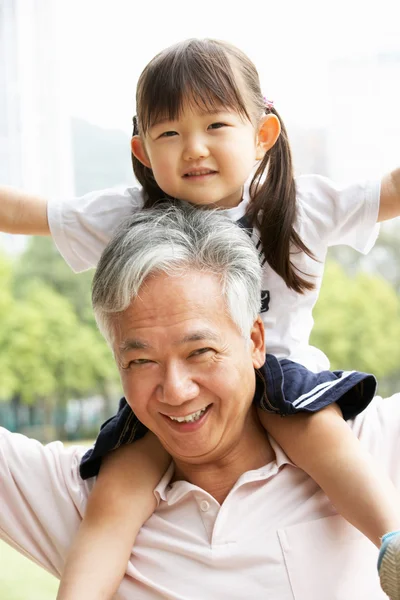
[[[266,262],[282,277],[289,289],[302,294],[315,286],[293,265],[290,255],[297,249],[311,258],[315,257],[294,229],[297,214],[296,184],[285,126],[273,107],[268,107],[266,112],[279,118],[281,134],[264,156],[253,177],[248,214],[260,231]],[[264,177],[265,172],[267,175]]]

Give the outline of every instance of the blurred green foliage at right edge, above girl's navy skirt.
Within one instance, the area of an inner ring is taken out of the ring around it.
[[[378,379],[398,371],[400,302],[381,277],[351,277],[328,262],[314,318],[311,343],[327,354],[332,369],[371,372]]]

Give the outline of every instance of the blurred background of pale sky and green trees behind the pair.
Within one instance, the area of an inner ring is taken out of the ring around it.
[[[400,165],[398,0],[0,0],[0,183],[49,198],[134,184],[137,78],[187,37],[250,56],[297,174],[349,183]],[[384,225],[367,257],[334,249],[314,312],[312,342],[332,368],[374,372],[381,395],[400,390],[399,233],[399,220]],[[115,411],[91,277],[73,274],[49,239],[0,235],[2,426],[43,442],[90,440]],[[47,600],[55,589],[0,546],[1,598]]]

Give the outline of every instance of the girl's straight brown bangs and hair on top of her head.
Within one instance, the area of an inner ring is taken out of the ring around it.
[[[213,40],[188,40],[157,55],[137,87],[139,130],[176,120],[188,105],[204,112],[229,108],[250,120],[226,49]]]

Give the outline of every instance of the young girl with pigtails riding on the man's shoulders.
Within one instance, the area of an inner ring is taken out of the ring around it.
[[[161,52],[140,76],[136,101],[131,147],[140,189],[47,204],[3,188],[1,228],[51,232],[79,271],[97,263],[124,217],[162,199],[225,209],[246,227],[264,265],[269,355],[257,378],[260,419],[338,512],[381,548],[382,587],[400,600],[399,498],[346,424],[372,399],[374,378],[328,371],[326,357],[309,345],[328,247],[369,250],[376,222],[400,214],[400,170],[344,189],[319,176],[295,183],[282,120],[263,97],[254,65],[224,42],[189,40]],[[277,373],[282,388],[274,386]],[[98,478],[59,598],[113,595],[156,508],[153,489],[168,460],[122,400],[81,465],[83,478]]]

